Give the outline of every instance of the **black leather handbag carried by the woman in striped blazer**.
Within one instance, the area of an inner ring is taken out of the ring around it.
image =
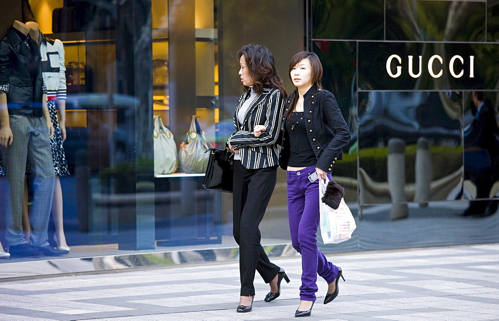
[[[211,190],[232,193],[232,180],[234,177],[234,162],[231,150],[218,150],[211,148],[205,153],[210,153],[206,168],[203,187]]]

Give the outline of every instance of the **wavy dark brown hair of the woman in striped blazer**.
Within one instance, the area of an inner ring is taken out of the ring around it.
[[[258,44],[247,44],[239,49],[238,60],[243,55],[246,59],[248,75],[253,81],[253,91],[259,95],[263,92],[263,88],[276,88],[286,99],[287,93],[275,68],[274,57],[270,50]],[[250,91],[250,87],[245,86],[245,90]]]

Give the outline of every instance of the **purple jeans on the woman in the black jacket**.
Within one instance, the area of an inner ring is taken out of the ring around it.
[[[317,248],[317,227],[319,226],[319,180],[310,182],[308,175],[315,166],[287,171],[287,208],[289,229],[293,247],[301,254],[300,299],[315,301],[317,274],[327,283],[332,283],[338,274],[338,267],[327,262]],[[329,179],[331,175],[328,174]]]

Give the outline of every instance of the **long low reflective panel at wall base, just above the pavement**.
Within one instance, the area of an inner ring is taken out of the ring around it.
[[[499,215],[481,219],[462,216],[464,201],[408,204],[408,218],[390,220],[394,204],[362,207],[359,251],[497,242]]]

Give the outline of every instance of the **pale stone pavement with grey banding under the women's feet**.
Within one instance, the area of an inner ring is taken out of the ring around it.
[[[236,313],[238,262],[0,282],[0,320],[296,320],[300,257],[271,258],[291,279],[253,311]],[[307,320],[499,320],[499,244],[328,255],[343,269],[339,296]]]

